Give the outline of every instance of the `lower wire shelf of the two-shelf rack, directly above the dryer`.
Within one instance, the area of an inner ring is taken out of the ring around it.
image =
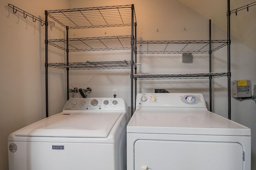
[[[148,79],[195,79],[195,78],[217,78],[228,76],[226,72],[192,73],[192,74],[134,74],[137,80]]]

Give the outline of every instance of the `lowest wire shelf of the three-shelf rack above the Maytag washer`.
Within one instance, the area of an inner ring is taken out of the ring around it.
[[[131,68],[130,61],[102,61],[102,62],[90,62],[85,63],[48,63],[49,67],[54,68],[69,68],[70,70],[90,70],[90,69],[120,69]]]

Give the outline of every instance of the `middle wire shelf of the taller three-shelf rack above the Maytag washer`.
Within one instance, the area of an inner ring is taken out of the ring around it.
[[[66,39],[51,39],[48,44],[66,51]],[[68,39],[68,51],[102,51],[131,49],[131,36],[92,37]]]

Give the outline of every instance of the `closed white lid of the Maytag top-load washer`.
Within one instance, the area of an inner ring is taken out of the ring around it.
[[[122,113],[59,113],[18,131],[16,136],[106,138]]]

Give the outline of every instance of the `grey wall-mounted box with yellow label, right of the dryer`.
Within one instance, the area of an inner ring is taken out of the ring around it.
[[[250,80],[234,80],[231,86],[232,97],[234,98],[250,98],[251,97],[251,81]]]

